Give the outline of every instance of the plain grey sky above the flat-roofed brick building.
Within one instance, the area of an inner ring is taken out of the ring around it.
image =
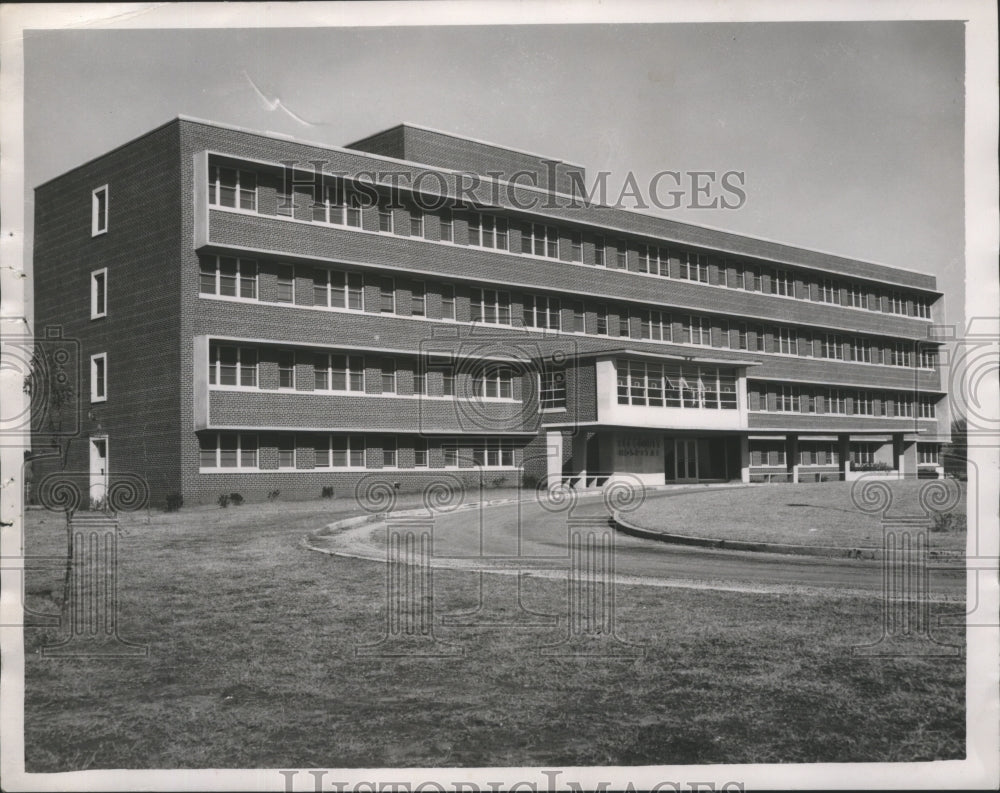
[[[177,115],[333,145],[408,121],[609,171],[612,196],[629,171],[640,185],[742,171],[740,209],[651,211],[933,274],[961,325],[963,35],[954,21],[29,30],[26,222],[36,185]]]

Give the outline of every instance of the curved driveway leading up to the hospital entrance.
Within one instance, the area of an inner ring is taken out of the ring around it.
[[[546,509],[531,500],[437,513],[421,521],[431,535],[435,567],[565,576],[571,527],[611,536],[620,583],[690,586],[738,591],[880,595],[881,562],[691,548],[612,532],[601,498],[581,498],[571,510]],[[405,521],[406,518],[400,518]],[[385,524],[366,524],[313,538],[328,553],[386,559]],[[960,599],[962,570],[930,571],[931,599]]]

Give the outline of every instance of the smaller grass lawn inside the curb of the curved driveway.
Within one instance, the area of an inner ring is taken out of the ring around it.
[[[922,515],[918,500],[926,480],[885,482],[893,494],[890,515]],[[832,545],[841,548],[876,548],[882,545],[877,515],[859,510],[851,500],[853,482],[821,484],[774,484],[726,490],[705,489],[672,496],[667,492],[646,494],[643,505],[627,517],[646,528],[692,537],[726,540]],[[965,517],[966,485],[961,488],[953,512]],[[711,516],[711,519],[706,519]],[[964,522],[962,524],[964,526]],[[930,547],[964,550],[962,530],[929,532]]]

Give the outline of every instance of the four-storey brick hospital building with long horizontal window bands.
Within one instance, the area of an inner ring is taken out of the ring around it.
[[[585,190],[411,125],[333,148],[187,118],[39,186],[36,333],[81,350],[68,468],[154,503],[936,475],[932,276]]]

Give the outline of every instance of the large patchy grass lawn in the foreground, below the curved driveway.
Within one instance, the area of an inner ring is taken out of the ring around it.
[[[59,631],[26,630],[27,769],[964,756],[964,659],[852,655],[881,634],[878,598],[620,587],[619,632],[643,658],[543,655],[564,620],[437,627],[460,657],[357,657],[383,631],[384,567],[299,544],[355,513],[334,500],[130,516],[120,631],[149,656],[42,658]],[[28,518],[29,553],[59,553],[61,516]],[[436,616],[475,607],[478,575],[433,575]],[[486,602],[514,581],[483,576]],[[31,571],[29,606],[52,610],[60,586],[59,570]],[[530,608],[563,613],[565,582],[524,586]]]

